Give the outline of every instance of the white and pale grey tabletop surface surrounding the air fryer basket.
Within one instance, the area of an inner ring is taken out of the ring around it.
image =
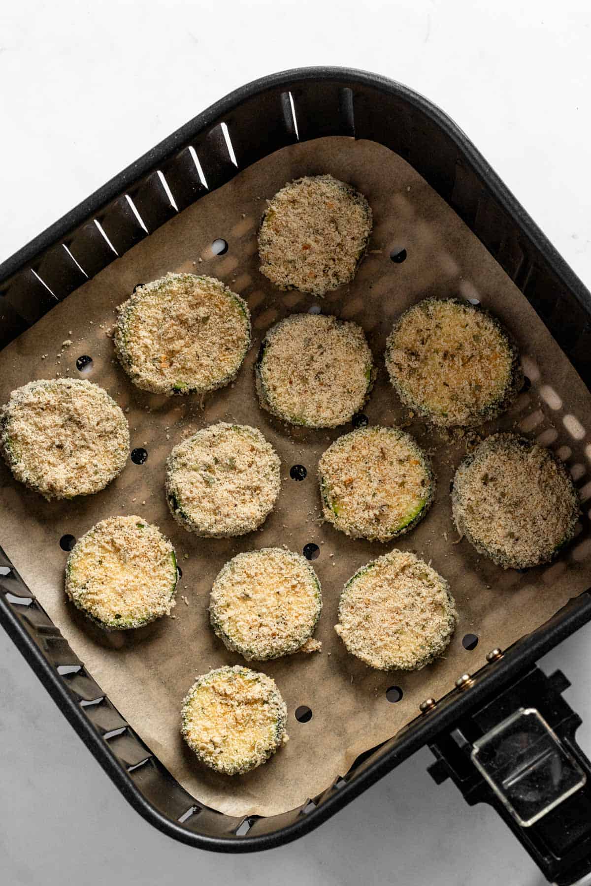
[[[3,4],[0,260],[229,90],[342,65],[447,111],[590,286],[590,44],[588,0]],[[542,662],[574,680],[587,753],[590,640],[591,627]],[[540,886],[494,812],[436,787],[429,762],[421,751],[284,849],[192,850],[131,810],[0,634],[2,886]]]

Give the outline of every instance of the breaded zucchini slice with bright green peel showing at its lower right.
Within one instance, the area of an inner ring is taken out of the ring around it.
[[[354,539],[390,541],[423,519],[435,494],[431,462],[398,428],[344,434],[318,462],[323,515]]]

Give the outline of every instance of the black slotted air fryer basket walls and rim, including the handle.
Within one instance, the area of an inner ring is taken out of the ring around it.
[[[147,236],[127,197],[152,231],[177,211],[163,179],[178,211],[207,192],[193,150],[214,190],[278,148],[320,136],[371,139],[407,160],[486,245],[591,387],[591,295],[578,277],[439,108],[345,68],[287,71],[237,89],[5,261],[0,346],[116,257],[101,228],[119,255]],[[591,765],[574,741],[580,719],[561,696],[568,680],[545,676],[535,662],[589,619],[591,589],[510,649],[491,650],[484,668],[427,700],[319,797],[282,815],[232,818],[200,806],[167,772],[0,548],[0,621],[82,741],[146,820],[215,851],[268,849],[306,834],[427,743],[435,781],[451,777],[468,803],[493,805],[548,879],[575,882],[591,870]]]

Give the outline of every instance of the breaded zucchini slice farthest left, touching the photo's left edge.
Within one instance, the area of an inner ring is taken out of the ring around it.
[[[104,489],[129,455],[126,417],[88,380],[51,378],[12,391],[0,409],[0,450],[14,477],[46,499]]]

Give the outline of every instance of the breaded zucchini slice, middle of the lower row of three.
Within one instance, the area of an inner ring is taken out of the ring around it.
[[[266,661],[301,649],[322,608],[320,582],[306,558],[284,548],[262,548],[225,564],[214,581],[209,616],[228,649]],[[311,651],[309,646],[304,651]]]

